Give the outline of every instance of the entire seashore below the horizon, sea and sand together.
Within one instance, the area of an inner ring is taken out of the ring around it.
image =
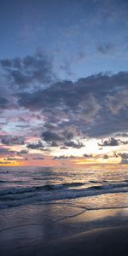
[[[1,256],[127,255],[126,169],[1,168],[1,177]]]

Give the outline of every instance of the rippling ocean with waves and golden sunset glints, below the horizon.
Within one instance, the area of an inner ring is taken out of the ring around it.
[[[89,209],[128,207],[128,170],[0,167],[0,208],[84,198]]]

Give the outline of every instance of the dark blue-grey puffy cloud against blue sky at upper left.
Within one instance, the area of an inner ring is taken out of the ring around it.
[[[54,79],[51,60],[41,53],[27,55],[25,58],[4,59],[0,64],[9,83],[20,89],[28,85],[34,87],[38,83],[48,84]]]

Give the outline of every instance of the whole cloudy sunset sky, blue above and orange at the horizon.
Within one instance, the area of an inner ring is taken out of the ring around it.
[[[0,166],[128,164],[128,1],[0,1]]]

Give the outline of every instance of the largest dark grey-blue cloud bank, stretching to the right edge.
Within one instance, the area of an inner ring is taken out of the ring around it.
[[[127,130],[127,81],[126,72],[101,73],[74,83],[62,81],[43,90],[19,93],[18,103],[31,111],[41,111],[46,125],[52,124],[48,128],[52,132],[73,126],[89,137],[108,136]],[[61,137],[64,137],[62,131]]]

